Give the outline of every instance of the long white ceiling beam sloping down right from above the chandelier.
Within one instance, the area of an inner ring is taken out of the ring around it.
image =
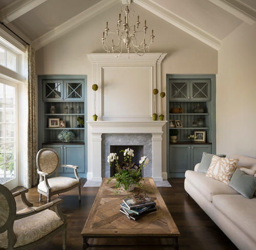
[[[152,12],[153,14],[159,16],[163,20],[173,24],[177,28],[183,30],[191,36],[199,39],[200,41],[206,43],[214,49],[219,50],[221,47],[221,41],[214,36],[211,36],[209,33],[203,31],[202,29],[196,27],[194,24],[186,21],[185,19],[177,16],[173,12],[170,12],[156,4],[152,0],[133,0],[134,3],[140,5],[146,10]]]

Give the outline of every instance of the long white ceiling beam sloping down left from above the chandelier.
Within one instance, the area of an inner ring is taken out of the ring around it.
[[[80,24],[90,20],[91,18],[99,15],[101,12],[105,11],[113,7],[116,4],[120,4],[120,0],[101,0],[99,3],[93,5],[89,9],[81,12],[80,14],[76,15],[75,17],[69,19],[66,22],[63,22],[58,27],[54,28],[53,30],[47,32],[46,34],[38,37],[32,42],[35,51],[39,48],[47,45],[48,43],[54,41],[55,39],[59,38],[62,35],[67,34],[68,32],[72,31]]]

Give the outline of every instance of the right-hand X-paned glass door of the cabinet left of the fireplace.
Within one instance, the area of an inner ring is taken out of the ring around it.
[[[82,81],[65,81],[66,84],[66,99],[69,101],[80,101],[84,99]]]

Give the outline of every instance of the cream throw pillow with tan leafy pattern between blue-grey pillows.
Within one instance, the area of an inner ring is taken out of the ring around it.
[[[229,184],[229,181],[236,170],[238,161],[239,159],[213,156],[205,176]]]

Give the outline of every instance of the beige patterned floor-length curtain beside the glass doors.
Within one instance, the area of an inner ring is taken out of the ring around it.
[[[35,50],[26,46],[26,112],[27,112],[27,156],[25,157],[25,187],[31,188],[37,184],[36,154],[37,154],[37,108],[36,108],[36,81],[35,81]]]

